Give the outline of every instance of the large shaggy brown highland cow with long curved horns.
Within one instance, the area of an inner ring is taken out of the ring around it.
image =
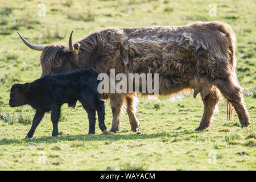
[[[20,35],[20,34],[19,34]],[[195,89],[201,94],[204,113],[199,127],[209,127],[220,92],[227,100],[228,119],[232,106],[242,127],[250,125],[249,114],[236,76],[236,36],[222,22],[195,22],[185,26],[104,28],[72,44],[35,46],[42,51],[42,76],[80,68],[95,68],[100,73],[159,73],[159,94]],[[131,130],[139,130],[134,94],[106,94],[110,98],[113,121],[110,131],[119,130],[123,106],[129,115]]]

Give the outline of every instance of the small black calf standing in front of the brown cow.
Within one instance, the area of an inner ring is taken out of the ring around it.
[[[77,100],[88,113],[89,134],[95,133],[96,111],[101,131],[106,130],[105,106],[104,101],[100,100],[100,93],[97,92],[97,76],[98,72],[95,69],[80,69],[44,76],[26,84],[14,84],[11,87],[9,105],[11,107],[30,105],[36,110],[26,138],[33,137],[44,113],[48,111],[51,111],[52,137],[59,135],[58,122],[61,105],[67,103],[68,106],[75,107]]]

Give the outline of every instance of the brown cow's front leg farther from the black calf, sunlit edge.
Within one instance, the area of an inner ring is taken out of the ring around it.
[[[129,116],[129,121],[131,125],[132,131],[139,131],[139,121],[136,118],[136,104],[138,98],[133,94],[129,94],[126,96],[126,104],[127,104],[127,114]]]

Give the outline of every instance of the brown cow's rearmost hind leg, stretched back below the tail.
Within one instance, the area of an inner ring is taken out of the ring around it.
[[[250,117],[243,101],[242,88],[238,84],[236,76],[230,75],[227,78],[218,79],[214,81],[214,85],[220,89],[223,96],[236,110],[241,126],[246,127],[250,125]]]

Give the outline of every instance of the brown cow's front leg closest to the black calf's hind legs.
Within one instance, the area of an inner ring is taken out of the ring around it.
[[[120,123],[119,123],[119,115],[121,113],[121,109],[123,103],[125,101],[125,96],[123,94],[110,94],[110,106],[112,109],[112,127],[109,131],[117,132],[119,131]]]

